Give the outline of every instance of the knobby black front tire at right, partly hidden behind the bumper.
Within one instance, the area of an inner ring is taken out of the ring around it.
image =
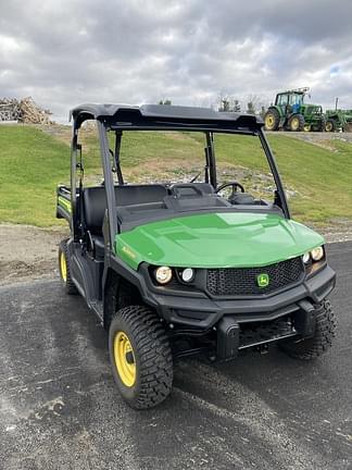
[[[324,300],[316,309],[315,334],[307,339],[293,339],[279,345],[288,356],[294,359],[311,360],[326,352],[331,347],[336,330],[336,316],[331,304]]]

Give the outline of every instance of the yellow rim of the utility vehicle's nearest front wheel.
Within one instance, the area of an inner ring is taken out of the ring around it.
[[[131,387],[136,382],[136,361],[130,341],[124,332],[118,332],[115,335],[114,359],[123,384]]]

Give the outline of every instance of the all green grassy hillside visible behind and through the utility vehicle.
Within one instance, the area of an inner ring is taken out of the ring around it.
[[[49,129],[48,129],[49,131]],[[62,132],[61,132],[62,131]],[[67,128],[43,132],[25,125],[0,126],[0,222],[55,225],[55,187],[70,178]],[[331,140],[325,149],[302,140],[269,135],[269,143],[286,185],[299,196],[290,200],[297,220],[328,224],[352,219],[352,145]],[[101,180],[96,133],[84,129],[85,171]],[[203,136],[190,133],[127,133],[122,146],[122,166],[129,181],[177,180],[197,174],[204,165]],[[222,181],[223,168],[242,166],[268,172],[259,143],[241,136],[215,136]],[[240,178],[239,178],[240,180]],[[241,182],[241,180],[240,180]]]

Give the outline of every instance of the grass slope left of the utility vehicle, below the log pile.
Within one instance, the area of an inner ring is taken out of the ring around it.
[[[67,146],[32,126],[0,126],[0,221],[58,224],[55,187],[66,181]]]

